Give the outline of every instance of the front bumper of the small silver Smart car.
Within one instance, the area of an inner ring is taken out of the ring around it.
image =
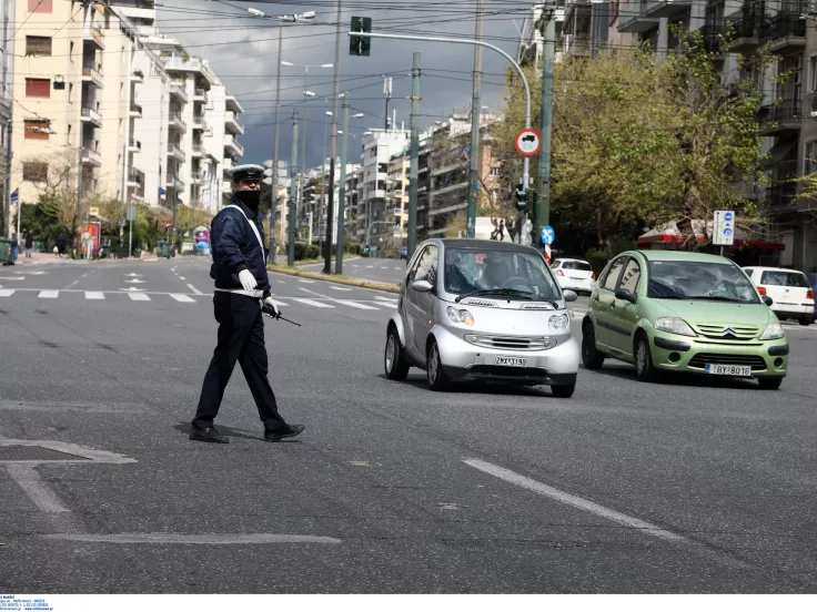
[[[434,338],[445,374],[454,380],[493,380],[528,385],[566,385],[578,374],[578,343],[562,336],[545,350],[512,350],[473,345],[444,327],[435,327]],[[497,366],[496,357],[524,357],[526,367]]]

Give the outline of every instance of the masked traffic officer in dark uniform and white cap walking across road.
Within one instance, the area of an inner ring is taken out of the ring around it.
[[[288,425],[281,417],[268,379],[262,302],[274,315],[280,312],[270,297],[264,230],[259,220],[263,176],[262,166],[235,166],[232,200],[213,218],[210,276],[215,282],[213,310],[219,335],[202,384],[191,440],[229,442],[213,421],[235,361],[241,365],[264,424],[264,440],[274,442],[304,430],[303,425]]]

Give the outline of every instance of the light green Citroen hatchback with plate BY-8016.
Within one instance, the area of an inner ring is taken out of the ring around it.
[[[733,262],[674,251],[629,251],[604,268],[582,322],[582,360],[634,364],[639,380],[678,371],[756,378],[777,389],[788,341],[771,312]]]

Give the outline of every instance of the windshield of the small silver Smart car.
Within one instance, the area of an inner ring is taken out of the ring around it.
[[[561,292],[545,259],[525,251],[445,249],[445,290],[463,295],[474,292],[515,289],[545,299]]]

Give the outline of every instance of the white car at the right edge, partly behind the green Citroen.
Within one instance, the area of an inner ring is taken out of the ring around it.
[[[800,325],[814,320],[814,290],[811,283],[796,269],[770,267],[745,267],[744,272],[760,295],[771,298],[770,308],[780,320],[795,318]]]

